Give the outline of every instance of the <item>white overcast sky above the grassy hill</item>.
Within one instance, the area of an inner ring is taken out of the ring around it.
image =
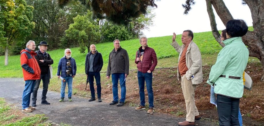
[[[248,26],[252,26],[251,12],[247,5],[242,5],[241,0],[223,0],[234,19],[243,19]],[[185,0],[157,1],[158,8],[154,10],[154,26],[144,30],[146,37],[160,37],[172,35],[173,32],[182,34],[183,30],[190,29],[194,33],[211,31],[210,20],[207,13],[205,0],[195,0],[188,15],[184,15],[181,6]],[[215,11],[214,11],[215,12]],[[218,30],[225,29],[224,24],[215,12]]]

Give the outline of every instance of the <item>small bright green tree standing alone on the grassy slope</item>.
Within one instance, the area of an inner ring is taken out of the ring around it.
[[[80,52],[84,53],[84,45],[90,51],[91,43],[100,41],[99,25],[92,20],[92,12],[88,11],[87,15],[73,18],[74,23],[70,24],[68,30],[65,31],[67,39],[78,41]]]

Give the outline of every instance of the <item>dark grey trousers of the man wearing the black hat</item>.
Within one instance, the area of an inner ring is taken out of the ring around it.
[[[38,93],[38,88],[40,85],[40,81],[42,80],[43,83],[43,89],[42,89],[42,96],[41,96],[41,102],[46,101],[46,94],[48,92],[48,74],[46,75],[40,75],[40,79],[36,81],[36,85],[34,87],[34,91],[32,93],[32,102],[36,103],[37,101],[37,93]]]

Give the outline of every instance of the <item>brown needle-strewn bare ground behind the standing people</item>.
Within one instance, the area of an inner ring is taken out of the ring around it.
[[[215,105],[210,104],[210,85],[206,83],[211,66],[203,66],[203,82],[196,87],[195,103],[203,118],[218,120]],[[244,89],[243,98],[240,99],[240,111],[243,116],[243,124],[260,125],[264,124],[264,83],[260,82],[263,70],[260,63],[248,63],[245,70],[253,79],[253,89]],[[112,101],[111,79],[101,77],[102,98]],[[127,94],[126,104],[136,106],[140,103],[137,80],[137,70],[130,70],[126,81]],[[79,85],[79,90],[85,89],[84,85]],[[96,88],[96,86],[95,86]],[[147,89],[145,88],[146,106]],[[88,90],[89,85],[88,85]],[[95,89],[96,91],[96,89]],[[186,107],[180,85],[177,80],[176,68],[159,68],[153,72],[154,108],[156,111],[185,117]],[[120,87],[119,87],[120,96]]]

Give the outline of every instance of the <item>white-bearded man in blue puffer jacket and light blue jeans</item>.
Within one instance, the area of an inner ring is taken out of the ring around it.
[[[64,101],[65,95],[65,87],[66,83],[68,83],[68,99],[69,102],[72,101],[71,94],[72,94],[72,80],[73,77],[76,75],[76,62],[75,59],[71,57],[71,49],[65,49],[64,51],[65,56],[62,57],[58,64],[57,76],[61,78],[61,99],[59,102]]]

